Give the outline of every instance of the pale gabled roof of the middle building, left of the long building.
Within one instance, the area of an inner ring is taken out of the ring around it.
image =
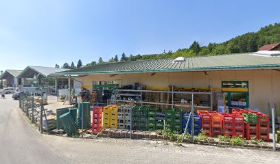
[[[56,72],[62,72],[69,69],[52,68],[43,66],[27,66],[17,77],[18,78],[33,78],[34,74],[47,78]]]

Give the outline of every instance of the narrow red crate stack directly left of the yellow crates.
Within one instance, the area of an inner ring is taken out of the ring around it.
[[[102,131],[102,107],[93,107],[93,133],[100,133]]]

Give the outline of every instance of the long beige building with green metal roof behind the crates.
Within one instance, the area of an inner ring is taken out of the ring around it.
[[[79,76],[82,87],[88,90],[108,83],[120,87],[140,83],[145,90],[170,90],[173,85],[182,90],[213,89],[213,100],[215,91],[221,91],[230,108],[269,113],[270,108],[280,105],[280,51],[107,63],[52,75]],[[163,97],[156,95],[150,100],[160,102]],[[180,104],[184,98],[189,100],[188,96],[178,95],[174,103]],[[203,101],[207,99],[201,96]]]

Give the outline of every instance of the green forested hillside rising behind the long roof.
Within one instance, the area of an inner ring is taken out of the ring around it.
[[[152,55],[130,55],[126,57],[126,54],[122,53],[121,59],[118,59],[118,56],[115,55],[115,57],[112,57],[109,61],[103,61],[102,57],[100,57],[99,61],[92,61],[86,66],[118,61],[165,59],[229,53],[248,53],[257,51],[259,47],[265,44],[273,44],[278,42],[280,42],[280,23],[275,23],[275,25],[262,27],[257,32],[245,33],[242,36],[237,36],[222,43],[209,43],[208,46],[200,46],[198,42],[194,41],[193,44],[189,46],[189,48],[178,49],[176,52],[168,51],[167,53]]]

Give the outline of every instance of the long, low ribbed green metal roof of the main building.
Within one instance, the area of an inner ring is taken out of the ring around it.
[[[205,57],[187,57],[185,58],[185,61],[179,62],[174,62],[174,59],[128,61],[82,67],[74,70],[57,72],[55,75],[244,70],[266,68],[280,68],[280,57],[266,57],[255,55],[253,53],[240,53]]]

